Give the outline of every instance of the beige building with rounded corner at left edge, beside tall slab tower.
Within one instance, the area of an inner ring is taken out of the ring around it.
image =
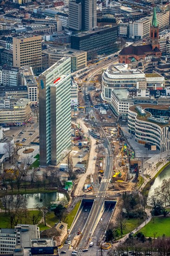
[[[32,116],[31,101],[28,99],[15,99],[15,104],[11,104],[13,98],[10,98],[9,101],[8,107],[0,108],[0,124],[24,125]]]

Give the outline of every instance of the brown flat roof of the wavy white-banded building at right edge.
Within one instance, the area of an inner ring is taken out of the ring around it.
[[[142,109],[144,109],[146,115],[140,115],[139,111],[137,110],[137,106],[140,106]],[[161,124],[158,122],[153,122],[148,120],[148,117],[151,117],[150,112],[146,111],[146,108],[153,108],[153,109],[161,109],[161,110],[170,110],[170,105],[153,105],[153,104],[137,104],[137,105],[133,105],[129,108],[129,110],[137,113],[137,119],[141,120],[141,121],[146,121],[146,122],[151,122],[151,123],[155,123],[158,126],[160,126],[161,128],[169,126],[170,125],[170,120],[168,122],[168,124]]]

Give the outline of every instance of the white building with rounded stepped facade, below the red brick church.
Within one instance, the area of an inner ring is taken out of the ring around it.
[[[145,74],[138,68],[130,69],[128,64],[111,64],[102,75],[102,99],[111,101],[112,89],[146,87]]]

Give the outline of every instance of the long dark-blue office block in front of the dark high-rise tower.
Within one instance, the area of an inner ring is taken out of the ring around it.
[[[86,51],[87,58],[116,51],[117,27],[100,27],[71,36],[71,48]]]

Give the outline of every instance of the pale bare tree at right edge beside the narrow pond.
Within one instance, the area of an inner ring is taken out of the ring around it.
[[[154,194],[164,202],[164,205],[170,205],[170,179],[164,179],[162,185],[155,189]]]

